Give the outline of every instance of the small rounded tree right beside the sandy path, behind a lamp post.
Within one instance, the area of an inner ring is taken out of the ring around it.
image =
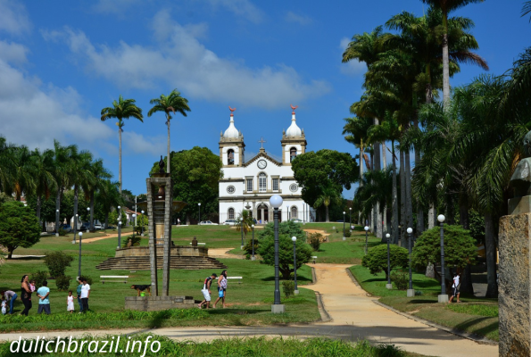
[[[409,263],[409,253],[406,248],[398,245],[389,245],[389,258],[391,270],[394,268],[406,268]],[[369,269],[371,274],[377,275],[380,271],[387,272],[387,245],[377,245],[369,250],[369,253],[361,260],[361,266]]]

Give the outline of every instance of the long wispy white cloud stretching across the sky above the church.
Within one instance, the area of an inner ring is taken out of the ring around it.
[[[220,58],[194,37],[197,29],[172,21],[168,12],[157,13],[153,24],[158,29],[155,37],[161,44],[158,49],[123,41],[115,48],[93,45],[85,33],[68,28],[45,33],[44,37],[61,37],[79,55],[80,61],[87,61],[87,71],[120,87],[145,89],[165,82],[188,98],[263,108],[276,108],[290,101],[303,102],[329,91],[326,82],[306,82],[295,69],[284,64],[252,69],[242,60]]]

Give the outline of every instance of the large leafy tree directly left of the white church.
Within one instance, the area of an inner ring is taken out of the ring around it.
[[[219,180],[223,177],[220,156],[206,147],[194,146],[172,152],[170,157],[173,198],[188,203],[177,216],[184,222],[190,216],[199,220],[197,203],[201,203],[201,217],[207,220],[212,212],[218,212]],[[159,163],[154,162],[151,172],[158,171]]]

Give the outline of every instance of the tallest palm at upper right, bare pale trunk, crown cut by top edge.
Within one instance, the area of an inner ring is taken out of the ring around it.
[[[443,103],[450,103],[450,57],[448,53],[448,14],[468,4],[483,3],[485,0],[422,0],[424,4],[443,12]]]

